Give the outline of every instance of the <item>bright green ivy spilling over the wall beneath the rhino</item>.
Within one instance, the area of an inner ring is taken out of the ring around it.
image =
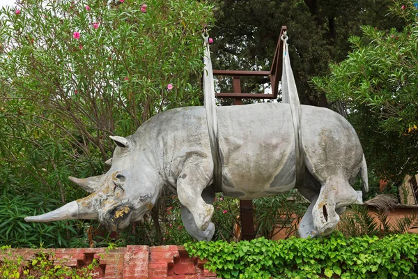
[[[418,278],[418,234],[187,243],[222,278]]]

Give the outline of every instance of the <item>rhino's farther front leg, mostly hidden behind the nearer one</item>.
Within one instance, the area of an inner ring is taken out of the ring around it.
[[[208,204],[212,204],[215,199],[215,193],[212,188],[206,188],[203,190],[202,198]],[[215,224],[212,222],[209,223],[208,228],[205,231],[202,231],[196,226],[194,222],[193,214],[187,209],[186,206],[181,206],[181,220],[183,220],[183,225],[185,226],[186,231],[198,241],[210,241],[213,234],[215,234]]]

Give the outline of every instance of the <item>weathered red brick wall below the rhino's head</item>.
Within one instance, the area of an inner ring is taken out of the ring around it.
[[[70,267],[83,267],[93,259],[98,267],[93,278],[129,279],[215,279],[216,274],[204,269],[204,261],[190,258],[183,246],[127,246],[105,250],[104,248],[44,249],[42,252],[53,255],[54,264]],[[0,251],[0,264],[3,258],[17,259],[22,256],[26,265],[36,257],[39,250],[8,249]]]

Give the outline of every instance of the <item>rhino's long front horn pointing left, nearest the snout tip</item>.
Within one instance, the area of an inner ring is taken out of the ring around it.
[[[88,197],[85,197],[84,199],[87,199]],[[82,200],[83,199],[79,199],[79,201]],[[94,210],[92,206],[84,206],[83,203],[79,201],[72,201],[61,206],[59,209],[55,209],[54,211],[42,215],[25,217],[24,220],[26,222],[51,222],[68,219],[98,219],[97,210]]]

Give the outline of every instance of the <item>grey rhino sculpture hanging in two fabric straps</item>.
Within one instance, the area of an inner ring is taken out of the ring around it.
[[[334,230],[339,214],[359,198],[351,186],[359,173],[368,188],[357,134],[331,110],[301,106],[306,170],[302,185],[297,186],[289,105],[217,107],[217,115],[224,194],[255,199],[297,188],[311,202],[299,227],[304,238]],[[141,220],[160,196],[178,195],[187,232],[209,241],[215,232],[210,222],[215,194],[204,107],[168,110],[146,121],[133,135],[111,138],[117,146],[106,174],[70,177],[91,195],[25,220],[98,219],[107,229],[117,230]]]

